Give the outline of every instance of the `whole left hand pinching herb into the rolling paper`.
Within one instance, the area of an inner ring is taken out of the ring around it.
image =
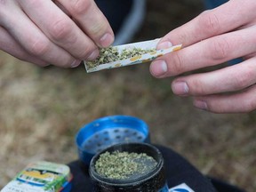
[[[75,68],[113,41],[93,0],[0,0],[0,50],[20,60]]]

